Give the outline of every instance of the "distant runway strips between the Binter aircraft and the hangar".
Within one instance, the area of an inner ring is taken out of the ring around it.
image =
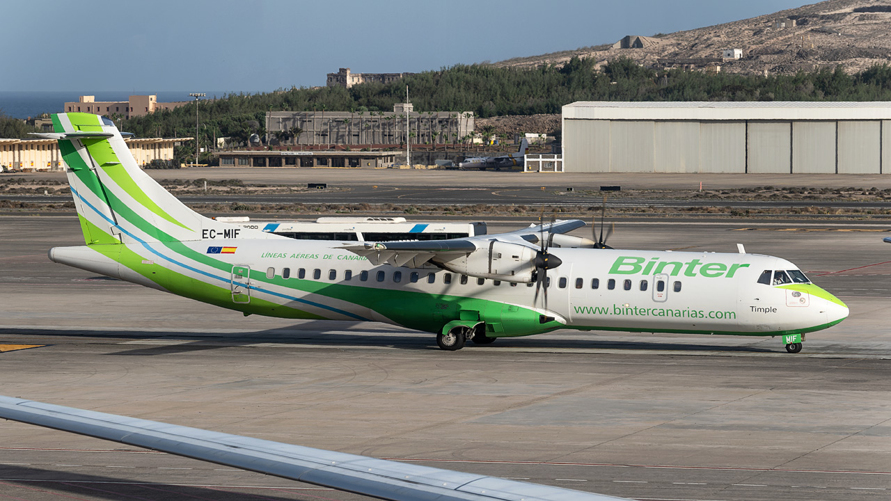
[[[186,195],[188,203],[369,203],[380,205],[535,205],[555,206],[595,205],[602,202],[601,186],[620,186],[624,190],[643,189],[732,189],[752,186],[797,187],[860,187],[891,188],[891,176],[854,175],[778,175],[778,174],[577,174],[577,173],[519,173],[454,170],[398,170],[398,169],[343,169],[343,168],[185,168],[146,170],[156,179],[242,179],[250,184],[306,185],[326,183],[339,191],[314,190],[291,194],[208,194]],[[4,174],[4,177],[64,180],[62,173]],[[568,192],[572,188],[573,192]],[[739,209],[777,207],[888,208],[891,201],[710,201],[710,200],[652,200],[641,197],[615,196],[608,198],[608,207],[701,207],[719,206]],[[69,195],[0,194],[0,199],[12,201],[69,201]]]

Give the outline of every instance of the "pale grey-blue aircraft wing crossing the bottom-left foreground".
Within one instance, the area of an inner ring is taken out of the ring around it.
[[[0,417],[394,501],[620,499],[21,398],[0,396]]]

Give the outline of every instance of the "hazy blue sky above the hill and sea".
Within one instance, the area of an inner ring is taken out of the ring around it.
[[[43,0],[4,5],[0,91],[266,92],[612,43],[802,0]],[[19,21],[15,21],[19,20]]]

